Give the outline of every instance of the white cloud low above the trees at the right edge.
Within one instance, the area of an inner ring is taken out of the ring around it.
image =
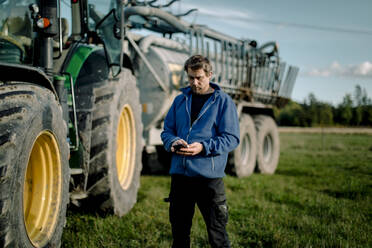
[[[313,77],[372,77],[372,62],[365,61],[357,65],[341,65],[337,61],[324,68],[312,68],[303,73]]]

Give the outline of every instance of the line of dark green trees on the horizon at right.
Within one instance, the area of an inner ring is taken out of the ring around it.
[[[280,126],[372,126],[372,100],[365,88],[357,85],[353,94],[346,94],[337,106],[316,99],[310,93],[303,103],[289,101],[275,110]]]

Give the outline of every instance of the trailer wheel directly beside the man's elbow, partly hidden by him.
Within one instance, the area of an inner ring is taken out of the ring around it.
[[[240,118],[240,144],[233,151],[234,172],[238,177],[250,176],[256,166],[256,129],[250,115]]]

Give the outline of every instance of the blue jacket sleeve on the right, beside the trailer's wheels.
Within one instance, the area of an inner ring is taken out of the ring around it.
[[[235,103],[229,97],[221,107],[221,115],[217,121],[217,136],[202,141],[206,156],[229,153],[239,145],[239,118]]]

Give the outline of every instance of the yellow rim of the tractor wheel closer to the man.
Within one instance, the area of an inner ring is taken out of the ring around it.
[[[123,190],[132,182],[135,155],[136,130],[132,108],[124,105],[119,118],[116,136],[116,169]]]

